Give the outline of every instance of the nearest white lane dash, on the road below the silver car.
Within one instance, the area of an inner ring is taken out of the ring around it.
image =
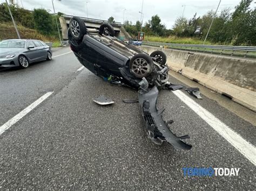
[[[2,126],[0,126],[0,135],[7,129],[9,129],[12,125],[14,125],[15,123],[17,123],[19,121],[19,119],[21,119],[22,117],[24,117],[26,114],[28,114],[31,110],[35,109],[37,107],[37,105],[39,105],[40,103],[42,103],[46,98],[48,98],[51,94],[53,93],[53,91],[50,91],[46,94],[44,94],[43,96],[39,97],[38,100],[36,100],[35,102],[31,103],[28,107],[26,107],[25,109],[23,109],[21,112],[19,112],[16,116],[12,117],[8,122],[6,122],[5,124],[3,124]]]

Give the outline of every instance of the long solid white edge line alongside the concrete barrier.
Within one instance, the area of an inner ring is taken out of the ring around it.
[[[174,95],[180,98],[188,107],[190,107],[197,115],[199,115],[206,123],[223,136],[231,145],[242,153],[248,160],[256,166],[256,148],[251,143],[243,139],[238,133],[231,130],[226,124],[221,122],[217,117],[212,115],[209,111],[201,107],[198,103],[193,101],[190,97],[185,95],[182,91],[172,91]]]

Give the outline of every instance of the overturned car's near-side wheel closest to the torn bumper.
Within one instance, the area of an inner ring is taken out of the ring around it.
[[[138,77],[143,78],[151,74],[153,70],[153,60],[145,53],[139,53],[130,60],[130,72]]]

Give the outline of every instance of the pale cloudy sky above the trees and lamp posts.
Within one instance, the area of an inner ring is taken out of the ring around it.
[[[5,0],[0,0],[0,2],[5,2]],[[25,9],[44,8],[53,12],[51,0],[15,0],[15,2],[19,6],[23,5]],[[134,23],[140,20],[139,11],[142,9],[143,0],[54,0],[53,2],[56,12],[82,17],[87,16],[87,2],[89,18],[107,19],[113,16],[116,22],[123,22],[124,9],[126,9],[124,19]],[[222,0],[219,10],[225,8],[233,10],[239,2],[240,0]],[[251,5],[252,8],[256,5],[254,2]],[[184,16],[191,18],[196,12],[198,16],[201,16],[207,11],[215,10],[218,3],[219,0],[144,0],[143,21],[149,20],[152,15],[158,15],[167,29],[171,29],[175,19],[183,13],[184,6],[182,5],[185,5]]]

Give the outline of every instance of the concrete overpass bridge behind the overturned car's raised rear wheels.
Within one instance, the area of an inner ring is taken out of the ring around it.
[[[62,30],[62,37],[64,40],[68,39],[68,28],[69,28],[69,21],[72,18],[72,15],[63,15],[62,17],[59,17],[59,22]],[[86,17],[79,17],[84,20],[84,23],[87,28],[93,28],[93,29],[99,29],[99,26],[103,23],[108,23],[107,20],[102,19],[93,19],[93,18],[86,18]],[[119,22],[115,22],[112,24],[114,31],[116,32],[116,37],[125,40],[130,39],[131,36],[129,33],[127,33],[124,29],[124,25]]]

